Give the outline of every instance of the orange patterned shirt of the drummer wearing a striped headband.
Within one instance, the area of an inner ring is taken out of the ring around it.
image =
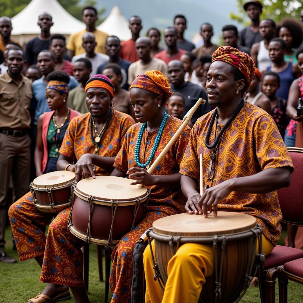
[[[84,154],[93,154],[95,145],[91,139],[90,128],[91,114],[77,116],[69,123],[59,153],[68,157],[76,158],[77,161]],[[101,142],[99,142],[98,155],[103,157],[115,157],[124,141],[125,134],[134,124],[131,116],[122,112],[113,112],[112,119],[108,124]],[[108,176],[111,171],[96,167],[95,174]]]

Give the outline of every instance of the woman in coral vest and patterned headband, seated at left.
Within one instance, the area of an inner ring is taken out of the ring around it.
[[[69,76],[66,72],[51,72],[48,77],[46,97],[51,112],[38,118],[35,148],[36,175],[56,171],[59,149],[69,122],[79,114],[67,107]]]

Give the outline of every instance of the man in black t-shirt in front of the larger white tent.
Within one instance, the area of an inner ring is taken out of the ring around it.
[[[26,68],[37,63],[38,54],[44,49],[48,49],[51,37],[50,28],[54,25],[52,16],[47,12],[42,13],[38,18],[38,25],[41,28],[41,34],[28,41],[25,51]]]

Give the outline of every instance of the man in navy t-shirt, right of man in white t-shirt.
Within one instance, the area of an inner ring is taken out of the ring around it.
[[[121,50],[120,39],[117,36],[107,37],[105,49],[109,56],[109,61],[99,65],[97,69],[97,74],[102,74],[103,68],[105,68],[105,66],[108,65],[109,63],[118,64],[122,72],[122,81],[120,86],[123,89],[128,90],[128,84],[127,84],[128,68],[129,65],[131,65],[132,63],[119,57]]]

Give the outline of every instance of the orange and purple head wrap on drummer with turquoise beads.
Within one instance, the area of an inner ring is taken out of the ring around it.
[[[168,79],[157,70],[147,71],[143,75],[138,75],[133,81],[132,87],[138,87],[150,92],[154,92],[163,97],[164,104],[171,97]]]

